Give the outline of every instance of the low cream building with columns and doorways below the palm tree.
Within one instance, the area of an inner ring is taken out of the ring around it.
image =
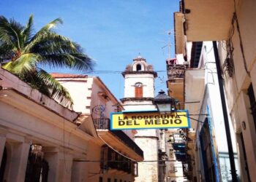
[[[91,117],[80,117],[2,68],[0,116],[0,181],[86,181],[86,164],[78,160],[87,158],[97,136]]]

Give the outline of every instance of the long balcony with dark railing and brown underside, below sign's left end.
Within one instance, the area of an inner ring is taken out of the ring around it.
[[[110,130],[109,118],[94,119],[94,125],[98,135],[106,143],[111,144],[113,148],[124,152],[132,159],[139,161],[143,160],[143,150],[141,150],[131,138],[129,138],[122,130]]]

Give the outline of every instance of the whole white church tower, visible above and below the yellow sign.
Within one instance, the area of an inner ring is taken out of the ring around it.
[[[153,66],[146,63],[146,59],[138,56],[129,64],[124,76],[124,98],[121,99],[125,111],[156,110],[154,100],[154,79],[157,72]],[[144,161],[139,162],[138,177],[135,181],[158,181],[158,130],[137,130],[135,143],[143,150]]]

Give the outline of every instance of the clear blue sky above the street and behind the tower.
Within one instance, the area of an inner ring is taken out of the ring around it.
[[[173,12],[179,0],[1,0],[0,15],[25,24],[34,15],[34,30],[61,17],[56,31],[83,47],[96,62],[94,74],[67,69],[67,72],[99,76],[116,98],[124,97],[121,71],[140,54],[158,71],[155,94],[166,88],[168,39],[174,57]],[[162,48],[164,47],[164,48]],[[108,71],[102,74],[102,71]],[[100,72],[100,73],[99,73]]]

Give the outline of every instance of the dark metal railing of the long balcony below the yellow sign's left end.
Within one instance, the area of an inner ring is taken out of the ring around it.
[[[123,143],[129,146],[130,149],[135,151],[141,157],[143,157],[143,150],[140,149],[137,144],[132,141],[122,130],[110,130],[110,119],[108,118],[99,118],[94,119],[94,125],[97,130],[109,130],[113,135],[116,135]]]

